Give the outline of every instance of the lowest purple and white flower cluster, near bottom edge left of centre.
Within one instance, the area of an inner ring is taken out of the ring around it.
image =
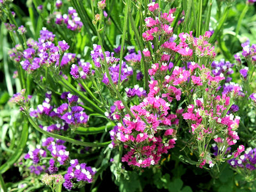
[[[65,182],[63,186],[66,189],[71,190],[74,181],[92,182],[93,175],[96,173],[94,167],[86,166],[86,163],[79,164],[77,159],[70,160],[70,165],[67,173],[64,175]]]

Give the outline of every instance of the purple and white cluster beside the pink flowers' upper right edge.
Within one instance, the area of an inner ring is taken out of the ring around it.
[[[212,73],[214,76],[218,76],[221,73],[227,75],[233,74],[234,71],[232,67],[234,67],[234,65],[234,63],[230,63],[229,61],[225,62],[225,59],[221,59],[220,61],[213,61],[211,65],[213,68]]]

